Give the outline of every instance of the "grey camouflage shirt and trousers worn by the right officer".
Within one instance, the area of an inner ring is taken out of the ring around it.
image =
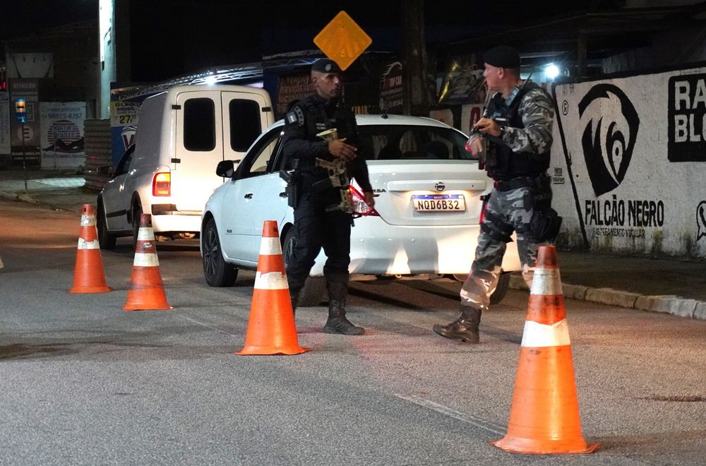
[[[515,88],[505,100],[508,107],[519,90],[520,88]],[[517,115],[522,119],[524,128],[507,126],[501,137],[494,138],[496,141],[489,138],[489,143],[506,145],[512,150],[514,157],[549,153],[552,143],[551,126],[554,121],[554,104],[549,95],[541,88],[528,90],[522,96]],[[489,114],[489,118],[494,119],[493,117],[493,114]],[[522,263],[522,277],[530,287],[539,246],[530,228],[539,194],[537,186],[501,190],[503,181],[510,187],[513,181],[510,181],[506,174],[493,172],[493,167],[487,169],[490,177],[496,180],[496,188],[491,192],[486,207],[471,273],[460,292],[462,304],[474,309],[488,309],[490,295],[498,284],[506,249],[506,241],[500,239],[501,237],[509,239],[513,230],[517,234],[517,252]],[[551,195],[544,201],[551,202]]]

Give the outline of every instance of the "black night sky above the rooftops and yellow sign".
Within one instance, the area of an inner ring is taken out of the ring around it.
[[[119,0],[127,1],[127,0]],[[403,47],[402,0],[136,0],[131,1],[133,71],[154,81],[213,65],[259,61],[263,55],[315,49],[313,37],[339,11],[346,11],[373,37],[370,49]],[[6,0],[0,40],[97,18],[98,0]],[[427,40],[469,37],[489,27],[536,23],[572,11],[615,8],[620,1],[426,0]],[[97,39],[96,39],[97,40]],[[155,52],[168,51],[155,66]]]

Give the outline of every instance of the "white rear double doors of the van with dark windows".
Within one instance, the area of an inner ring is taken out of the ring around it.
[[[265,90],[187,90],[177,95],[172,203],[182,213],[201,215],[224,179],[221,160],[239,160],[273,119]],[[263,111],[263,108],[267,111]]]

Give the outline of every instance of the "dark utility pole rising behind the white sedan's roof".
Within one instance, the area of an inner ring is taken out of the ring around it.
[[[403,112],[429,117],[429,89],[426,82],[426,43],[424,41],[424,0],[402,0],[402,27],[405,28],[405,62],[402,66]]]

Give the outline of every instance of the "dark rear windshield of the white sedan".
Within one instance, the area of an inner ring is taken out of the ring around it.
[[[473,160],[466,138],[450,128],[412,125],[359,126],[367,160]]]

